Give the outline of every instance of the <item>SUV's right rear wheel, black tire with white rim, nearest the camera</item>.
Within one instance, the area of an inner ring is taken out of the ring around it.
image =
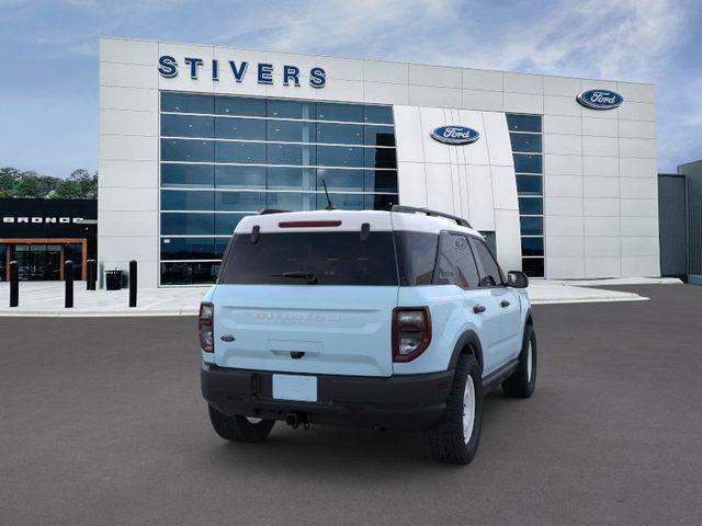
[[[475,457],[483,423],[483,380],[475,356],[462,354],[441,422],[424,432],[434,460],[466,465]]]

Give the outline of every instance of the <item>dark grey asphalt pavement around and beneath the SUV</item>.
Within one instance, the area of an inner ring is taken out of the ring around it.
[[[534,308],[539,384],[486,403],[467,467],[418,434],[229,444],[195,319],[0,318],[0,525],[702,523],[702,287]]]

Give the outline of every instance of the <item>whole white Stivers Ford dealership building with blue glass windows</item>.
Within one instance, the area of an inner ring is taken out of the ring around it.
[[[263,208],[465,217],[506,270],[658,276],[652,84],[104,37],[98,254],[212,283]]]

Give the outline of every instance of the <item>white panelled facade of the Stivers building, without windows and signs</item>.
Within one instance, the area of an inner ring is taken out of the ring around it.
[[[176,57],[180,75],[159,75]],[[185,57],[202,58],[196,80]],[[235,82],[212,60],[273,65],[273,83],[250,71]],[[326,70],[324,89],[284,85],[283,65]],[[587,89],[624,98],[614,110],[579,105]],[[655,100],[652,84],[332,58],[104,37],[100,42],[102,268],[139,262],[143,286],[159,279],[159,91],[229,93],[394,106],[399,199],[465,216],[495,230],[500,263],[521,267],[519,205],[506,113],[543,115],[545,277],[658,276]],[[433,127],[471,126],[482,138],[448,146]]]

